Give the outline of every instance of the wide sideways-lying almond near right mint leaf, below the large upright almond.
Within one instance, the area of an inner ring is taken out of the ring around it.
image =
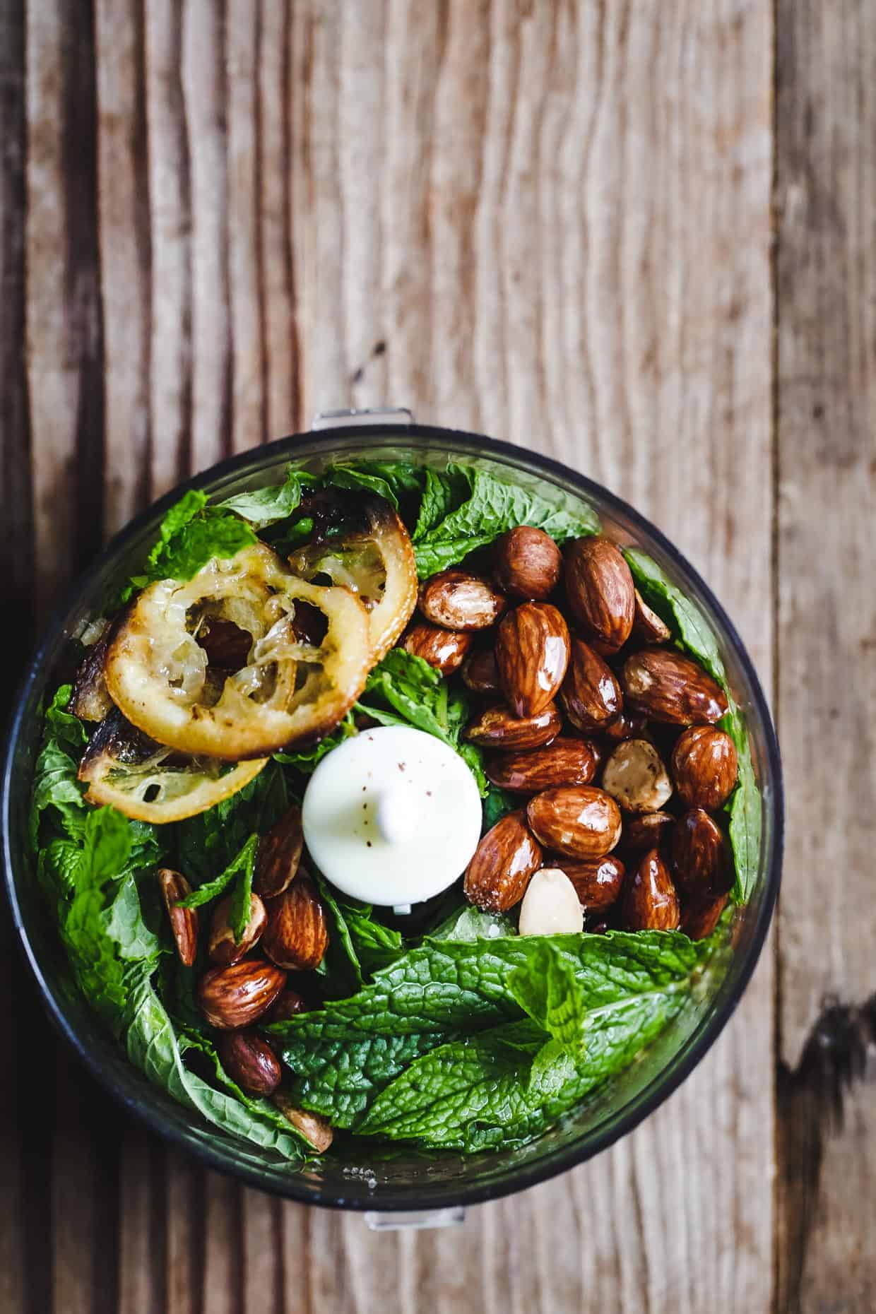
[[[621,686],[630,711],[670,725],[708,725],[728,710],[717,681],[668,648],[646,648],[628,657]]]

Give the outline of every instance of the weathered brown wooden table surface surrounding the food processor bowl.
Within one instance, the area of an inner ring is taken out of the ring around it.
[[[461,1230],[167,1150],[8,946],[3,1314],[876,1309],[875,88],[871,0],[0,0],[7,650],[186,472],[407,405],[680,545],[788,795],[718,1043]]]

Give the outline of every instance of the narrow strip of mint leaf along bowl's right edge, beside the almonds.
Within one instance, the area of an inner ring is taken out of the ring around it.
[[[760,866],[760,791],[754,777],[749,735],[728,687],[717,640],[697,604],[667,579],[657,561],[638,548],[626,548],[624,556],[638,591],[649,607],[653,607],[670,627],[679,648],[696,658],[728,695],[729,710],[718,724],[735,744],[739,774],[725,812],[729,815],[730,848],[735,870],[733,897],[737,903],[745,904],[751,896]]]

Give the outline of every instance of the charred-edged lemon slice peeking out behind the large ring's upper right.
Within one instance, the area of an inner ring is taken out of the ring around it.
[[[326,576],[361,599],[369,619],[373,661],[393,646],[416,606],[416,561],[402,520],[382,498],[356,506],[362,527],[309,543],[289,557],[302,579]]]

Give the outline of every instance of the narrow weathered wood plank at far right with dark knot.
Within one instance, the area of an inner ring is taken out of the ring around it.
[[[876,1043],[876,1028],[822,1014],[825,996],[843,1005],[876,997],[876,13],[855,0],[780,0],[777,34],[777,681],[788,849],[776,1309],[814,1314],[876,1302],[872,1091],[848,1095],[841,1126],[831,1108],[855,1037]]]

